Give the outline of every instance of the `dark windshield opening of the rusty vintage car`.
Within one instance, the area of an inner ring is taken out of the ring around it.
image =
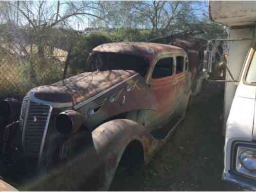
[[[148,68],[148,59],[137,55],[101,52],[90,55],[87,61],[87,71],[133,70],[143,77]]]

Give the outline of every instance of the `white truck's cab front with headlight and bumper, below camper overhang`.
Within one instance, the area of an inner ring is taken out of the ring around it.
[[[223,179],[256,189],[256,54],[249,49],[226,123]]]

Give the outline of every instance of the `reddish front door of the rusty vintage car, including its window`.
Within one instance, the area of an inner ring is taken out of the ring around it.
[[[174,113],[176,103],[176,86],[174,77],[175,58],[162,56],[156,59],[151,78],[149,80],[157,105],[156,114],[150,121],[160,128]]]

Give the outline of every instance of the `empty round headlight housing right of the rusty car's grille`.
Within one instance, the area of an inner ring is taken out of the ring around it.
[[[84,116],[73,110],[68,110],[60,113],[56,117],[56,129],[63,135],[76,133],[84,122]]]

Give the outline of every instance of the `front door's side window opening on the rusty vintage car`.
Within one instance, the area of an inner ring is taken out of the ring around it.
[[[167,57],[162,58],[159,61],[157,61],[154,71],[152,73],[152,78],[162,78],[162,77],[168,77],[172,76],[172,68],[173,68],[173,58]]]

